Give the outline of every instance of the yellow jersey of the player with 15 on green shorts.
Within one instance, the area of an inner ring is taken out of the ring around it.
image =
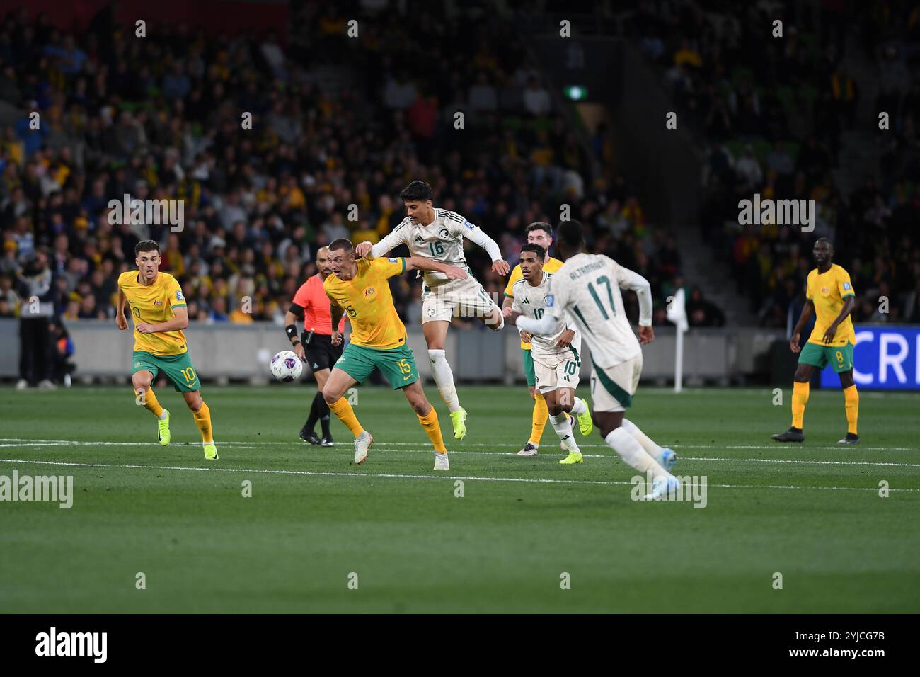
[[[406,270],[406,259],[356,259],[351,280],[335,273],[323,283],[326,295],[345,309],[351,322],[351,343],[387,350],[406,344],[406,326],[399,319],[387,280]]]

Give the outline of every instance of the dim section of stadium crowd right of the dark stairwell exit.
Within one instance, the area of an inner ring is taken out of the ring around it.
[[[847,15],[852,11],[854,14]],[[784,22],[776,40],[774,20]],[[847,42],[846,26],[859,26]],[[813,268],[811,242],[834,240],[836,263],[851,274],[855,321],[920,322],[920,10],[912,3],[640,3],[629,22],[643,53],[661,66],[673,99],[706,140],[701,234],[730,265],[739,292],[762,325],[785,327],[798,313]],[[857,118],[860,91],[845,48],[877,61],[880,96]],[[882,181],[867,178],[841,195],[845,130],[875,129],[887,150]],[[788,225],[740,226],[738,203],[813,199],[814,232]],[[887,298],[884,303],[881,298]],[[794,320],[793,320],[794,321]]]

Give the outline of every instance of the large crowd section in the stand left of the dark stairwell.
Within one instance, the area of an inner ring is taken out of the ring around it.
[[[316,250],[339,237],[380,239],[403,217],[398,193],[415,179],[431,183],[437,206],[489,232],[512,265],[527,225],[556,223],[569,204],[593,251],[645,274],[663,303],[680,267],[673,238],[648,227],[624,177],[592,178],[600,135],[581,145],[512,30],[425,10],[422,43],[390,12],[363,23],[357,47],[334,4],[294,11],[287,46],[185,25],[136,40],[106,12],[78,35],[24,10],[2,18],[0,100],[21,117],[0,139],[0,316],[21,309],[22,273],[41,250],[59,324],[113,317],[118,274],[150,237],[193,321],[280,323],[316,272]],[[460,56],[470,43],[472,61]],[[328,87],[316,68],[329,64],[351,68],[362,86]],[[183,200],[182,230],[113,225],[109,201],[125,194]],[[472,246],[468,257],[500,295],[485,252]],[[400,312],[419,322],[420,284],[393,286]]]

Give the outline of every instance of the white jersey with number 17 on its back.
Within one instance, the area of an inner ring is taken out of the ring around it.
[[[611,368],[641,353],[627,319],[620,287],[639,299],[640,325],[651,325],[649,282],[603,254],[572,256],[553,274],[547,309],[558,319],[569,313],[591,348],[592,362]]]

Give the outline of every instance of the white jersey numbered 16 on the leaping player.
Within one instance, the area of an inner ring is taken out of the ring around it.
[[[374,258],[384,256],[400,244],[408,246],[412,256],[423,256],[432,261],[447,263],[467,270],[466,256],[463,252],[463,239],[478,239],[482,231],[463,216],[446,209],[435,209],[434,220],[428,226],[412,223],[408,216],[384,239],[372,248]],[[483,233],[485,235],[485,233]],[[440,285],[447,281],[447,275],[435,271],[420,271],[425,283]]]

